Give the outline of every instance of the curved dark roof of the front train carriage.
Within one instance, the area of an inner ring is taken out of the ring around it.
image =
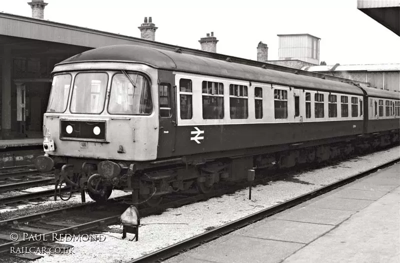
[[[141,45],[123,44],[98,47],[76,54],[57,65],[89,61],[144,63],[165,70],[283,84],[294,87],[308,87],[326,91],[363,94],[360,88],[350,83],[351,80],[345,83]]]

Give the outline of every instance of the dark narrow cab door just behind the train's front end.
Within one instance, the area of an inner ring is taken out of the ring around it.
[[[158,71],[159,136],[158,157],[168,157],[175,151],[176,101],[172,72]]]

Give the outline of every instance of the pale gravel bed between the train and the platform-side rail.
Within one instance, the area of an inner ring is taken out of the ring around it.
[[[372,168],[399,155],[400,146],[396,146],[343,161],[333,166],[271,181],[266,185],[253,186],[251,200],[248,199],[248,188],[246,188],[233,194],[225,194],[206,201],[170,208],[162,214],[140,219],[138,242],[121,239],[122,227],[110,225],[108,230],[103,232],[106,235],[104,241],[63,241],[60,243],[74,246],[74,254],[44,255],[36,262],[125,262],[315,190],[322,185]],[[69,205],[78,203],[80,196],[73,197],[68,202]],[[49,201],[47,205],[51,205],[51,203],[66,202]],[[133,234],[128,233],[127,239],[131,238],[133,238]]]

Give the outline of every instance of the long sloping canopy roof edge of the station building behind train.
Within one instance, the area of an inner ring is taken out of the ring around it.
[[[0,39],[2,35],[73,44],[77,46],[86,46],[91,48],[115,44],[140,44],[171,51],[180,49],[184,53],[197,56],[210,57],[220,60],[226,60],[229,58],[234,63],[260,67],[263,66],[269,69],[279,70],[283,72],[292,72],[318,78],[328,78],[335,81],[347,81],[346,79],[339,77],[326,76],[324,74],[314,73],[311,71],[303,71],[281,65],[269,64],[267,62],[259,62],[246,58],[224,55],[221,53],[208,52],[194,48],[171,45],[127,35],[115,34],[81,26],[58,23],[49,20],[35,19],[32,17],[4,12],[0,12]]]

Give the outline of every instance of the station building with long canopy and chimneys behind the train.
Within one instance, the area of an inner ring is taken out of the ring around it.
[[[41,145],[43,113],[47,107],[53,66],[72,55],[100,46],[145,45],[262,68],[348,81],[333,75],[269,63],[266,44],[261,45],[260,49],[260,57],[264,59],[255,61],[216,53],[218,40],[213,32],[200,38],[201,50],[192,49],[155,41],[157,27],[151,17],[145,17],[138,26],[141,38],[137,38],[44,20],[47,3],[43,0],[32,0],[28,4],[32,8],[32,17],[0,13],[0,140],[39,138],[37,144]],[[314,44],[315,48],[319,50],[319,43],[318,47]],[[319,57],[318,52],[316,53]],[[304,62],[313,64],[311,60]]]

